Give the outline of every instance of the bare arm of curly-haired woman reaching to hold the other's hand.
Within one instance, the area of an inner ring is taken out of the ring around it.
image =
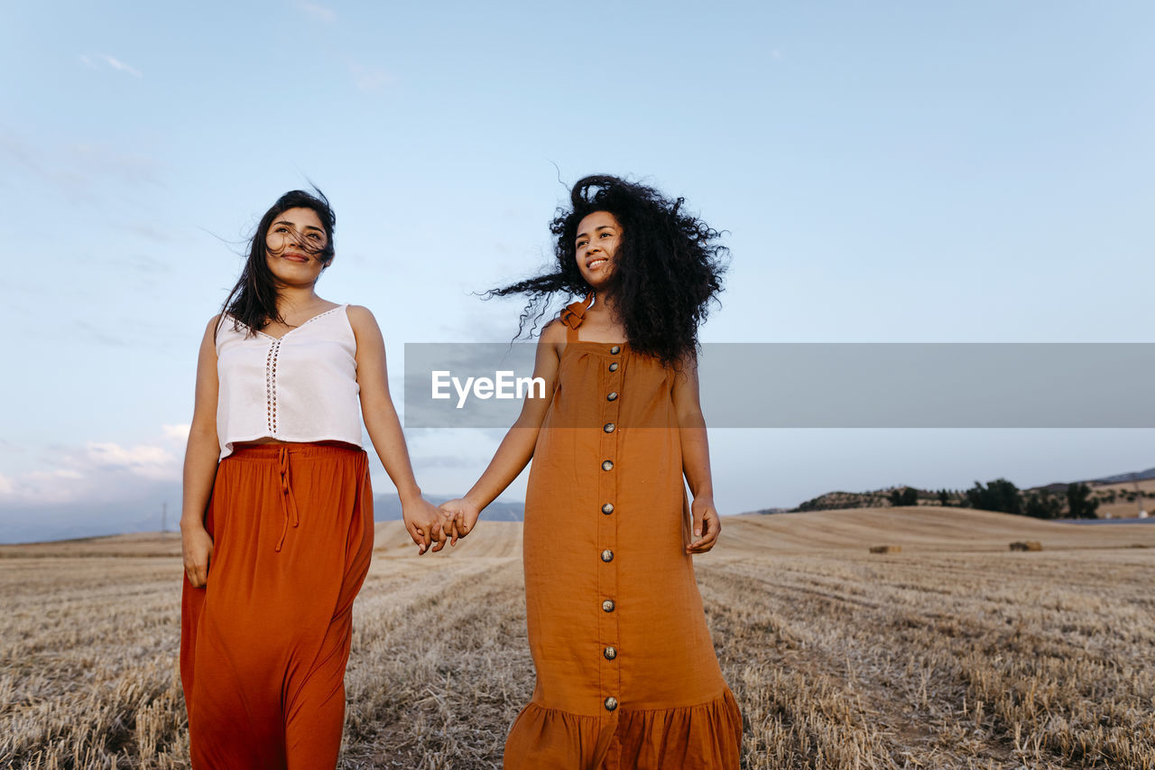
[[[553,388],[558,382],[558,363],[561,346],[565,343],[565,327],[553,321],[542,330],[534,360],[534,377],[545,380],[546,398],[529,398],[521,405],[521,414],[513,427],[501,439],[493,459],[477,483],[459,501],[449,501],[441,509],[450,513],[456,528],[456,536],[464,536],[474,528],[477,517],[486,505],[505,491],[517,477],[534,457],[537,446],[537,434],[552,401]],[[530,391],[532,395],[532,391]],[[454,541],[456,541],[456,536]]]

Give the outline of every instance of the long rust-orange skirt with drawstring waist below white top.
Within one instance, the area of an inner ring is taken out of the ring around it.
[[[334,768],[353,598],[373,550],[362,450],[241,449],[204,517],[208,585],[185,579],[180,676],[194,768]]]

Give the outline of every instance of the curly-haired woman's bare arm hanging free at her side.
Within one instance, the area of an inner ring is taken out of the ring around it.
[[[686,546],[691,554],[703,554],[714,547],[722,523],[714,506],[714,479],[710,474],[710,445],[706,436],[706,419],[698,391],[698,358],[687,355],[675,376],[673,408],[678,416],[678,436],[681,442],[681,471],[694,496],[694,541]]]

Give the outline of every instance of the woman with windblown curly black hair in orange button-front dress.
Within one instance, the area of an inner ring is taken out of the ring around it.
[[[738,767],[742,715],[722,679],[692,555],[714,547],[698,327],[721,290],[720,234],[657,191],[580,180],[552,223],[556,268],[522,294],[521,330],[554,295],[527,399],[472,489],[442,505],[454,539],[532,458],[524,570],[537,684],[505,767]],[[685,496],[683,476],[693,502]]]

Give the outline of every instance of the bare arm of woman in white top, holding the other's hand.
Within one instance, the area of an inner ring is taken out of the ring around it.
[[[381,327],[367,308],[349,306],[349,324],[357,338],[357,384],[360,387],[362,415],[368,430],[373,449],[397,488],[401,497],[402,517],[405,528],[418,553],[425,553],[434,540],[433,550],[445,546],[440,536],[441,517],[435,506],[422,497],[420,487],[413,475],[413,467],[401,430],[401,420],[389,397],[389,376],[385,361],[385,339]]]

